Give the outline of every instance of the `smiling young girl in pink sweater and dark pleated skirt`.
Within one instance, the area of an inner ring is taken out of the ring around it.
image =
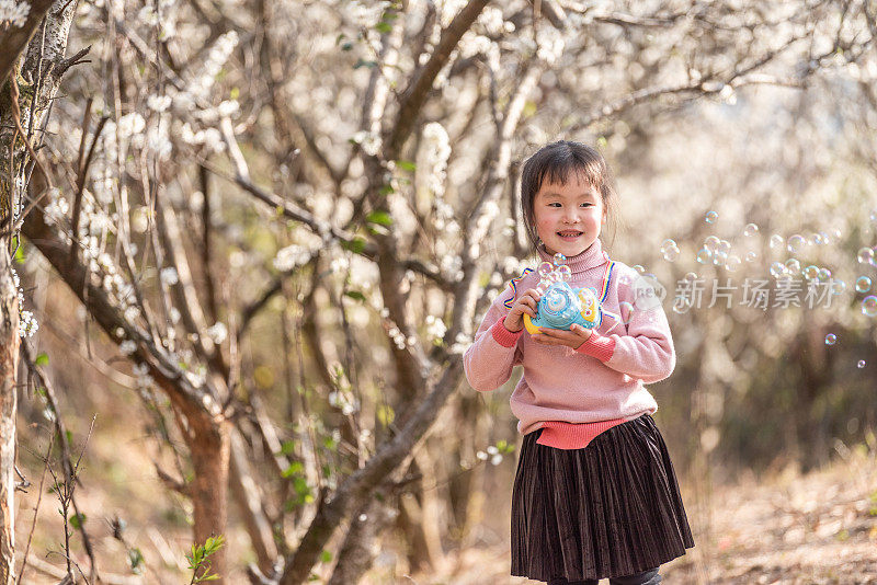
[[[643,383],[670,376],[675,353],[660,302],[637,296],[639,273],[610,261],[600,232],[615,208],[612,176],[594,149],[547,145],[524,164],[521,206],[542,261],[567,257],[573,288],[606,311],[595,330],[524,331],[539,275],[512,280],[463,357],[488,392],[524,375],[511,397],[524,435],[512,492],[512,574],[550,585],[653,585],[658,569],[694,547],[673,464]],[[639,280],[641,282],[641,279]]]

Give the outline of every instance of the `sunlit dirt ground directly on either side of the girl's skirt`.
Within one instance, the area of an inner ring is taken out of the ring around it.
[[[789,469],[742,479],[693,502],[697,546],[663,566],[664,583],[877,584],[877,448],[841,446],[839,452],[831,466],[806,475]],[[510,577],[509,566],[508,547],[467,550],[433,574],[397,582],[538,583]]]

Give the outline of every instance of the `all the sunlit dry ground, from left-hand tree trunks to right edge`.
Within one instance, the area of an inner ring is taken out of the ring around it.
[[[141,550],[147,571],[141,578],[125,577],[117,583],[187,582],[187,502],[169,497],[156,479],[152,459],[143,449],[130,449],[143,438],[134,427],[122,428],[124,421],[119,426],[105,423],[114,441],[91,441],[83,484],[78,489],[100,565],[104,574],[130,575],[126,551],[112,537],[110,519],[118,514],[127,520],[126,540]],[[117,457],[119,445],[127,447],[122,460]],[[836,451],[829,464],[806,474],[787,467],[761,477],[743,474],[711,489],[704,485],[707,481],[692,483],[682,478],[696,547],[662,567],[664,583],[877,584],[877,445],[847,449],[839,444]],[[38,494],[41,469],[31,464],[32,460],[35,456],[27,451],[20,457],[35,485],[27,494],[19,494],[19,553],[27,541]],[[62,537],[57,507],[54,494],[45,493],[44,487],[41,520],[31,546],[34,562],[23,583],[58,582],[45,566],[57,567],[62,562],[57,553],[49,553],[60,549]],[[483,529],[489,538],[479,539],[477,547],[448,551],[433,571],[408,575],[400,555],[385,551],[364,584],[536,585],[538,582],[509,576],[508,534],[498,528],[508,523],[493,518],[491,527],[487,526],[489,519]],[[251,560],[240,557],[247,550],[247,537],[234,515],[228,538],[235,554],[227,582],[248,583],[240,570]],[[87,567],[79,536],[73,540],[76,560]],[[37,563],[44,566],[35,566]],[[323,566],[319,573],[326,575],[330,570]]]

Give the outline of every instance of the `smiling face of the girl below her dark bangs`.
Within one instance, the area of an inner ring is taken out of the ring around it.
[[[543,183],[533,199],[536,231],[549,254],[581,254],[600,237],[606,209],[600,191],[578,174],[559,183]]]

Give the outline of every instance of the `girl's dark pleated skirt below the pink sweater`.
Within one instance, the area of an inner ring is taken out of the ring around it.
[[[694,547],[679,482],[643,414],[583,449],[524,436],[512,493],[512,575],[569,581],[633,575]]]

